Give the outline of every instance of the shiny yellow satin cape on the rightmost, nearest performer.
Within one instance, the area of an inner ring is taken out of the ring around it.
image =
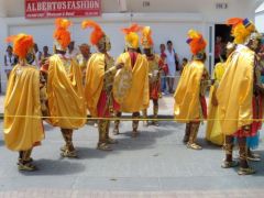
[[[253,51],[239,45],[227,61],[227,70],[217,91],[221,130],[227,135],[253,122],[254,58]]]

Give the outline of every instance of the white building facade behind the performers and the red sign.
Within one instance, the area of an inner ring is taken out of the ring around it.
[[[179,58],[190,58],[186,44],[189,29],[200,31],[208,41],[208,68],[213,65],[215,26],[224,24],[232,16],[254,20],[255,10],[263,0],[101,0],[102,14],[90,18],[101,24],[112,42],[111,54],[117,57],[124,48],[121,28],[131,22],[150,25],[153,30],[155,51],[161,43],[172,40]],[[72,37],[76,44],[89,43],[90,31],[82,31],[80,23],[85,18],[73,18]],[[26,20],[24,18],[24,0],[0,0],[0,57],[3,55],[8,35],[20,32],[34,36],[38,48],[44,45],[52,51],[54,19]],[[1,90],[6,91],[4,67],[1,67]]]

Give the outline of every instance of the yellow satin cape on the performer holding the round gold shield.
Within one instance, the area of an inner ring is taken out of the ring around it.
[[[131,57],[128,52],[118,57],[117,63],[123,63],[124,67],[132,70],[132,87],[120,103],[122,112],[138,112],[148,108],[150,91],[148,91],[148,63],[146,58],[138,54],[135,65],[132,68]]]

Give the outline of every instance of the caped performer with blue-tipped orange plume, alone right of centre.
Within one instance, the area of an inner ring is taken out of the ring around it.
[[[202,35],[194,30],[188,32],[187,43],[193,53],[193,61],[185,66],[175,91],[174,114],[176,121],[186,123],[184,142],[187,143],[187,147],[201,150],[196,139],[201,120],[207,118],[205,94],[210,85],[205,67],[207,43]]]

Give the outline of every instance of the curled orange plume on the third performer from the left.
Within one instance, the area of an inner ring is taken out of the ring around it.
[[[97,45],[100,42],[100,40],[105,36],[105,32],[102,31],[102,29],[98,23],[91,20],[82,21],[81,29],[87,29],[87,28],[94,29],[90,35],[90,43],[92,45]]]

